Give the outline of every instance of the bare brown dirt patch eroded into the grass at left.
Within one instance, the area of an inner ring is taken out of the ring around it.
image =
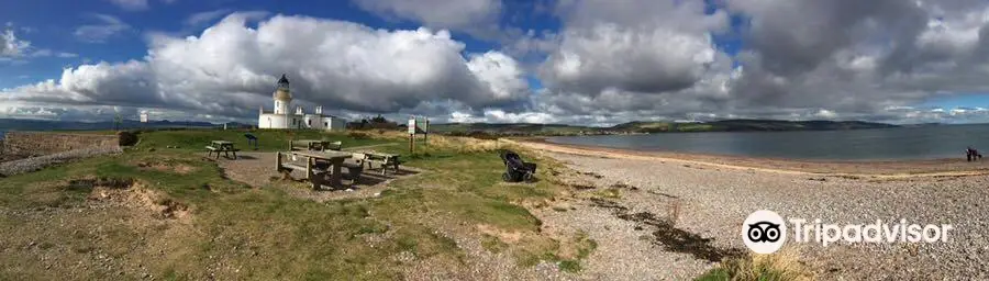
[[[190,215],[186,204],[132,179],[73,180],[68,188],[91,189],[87,196],[90,202],[147,210],[156,218],[187,220]]]

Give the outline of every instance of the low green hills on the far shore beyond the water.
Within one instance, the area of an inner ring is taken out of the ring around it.
[[[776,132],[776,131],[835,131],[886,128],[897,125],[863,121],[781,121],[781,120],[722,120],[712,122],[647,122],[635,121],[610,127],[574,126],[563,124],[530,123],[451,123],[430,124],[430,131],[447,134],[485,132],[498,135],[600,135],[636,133],[686,132]]]

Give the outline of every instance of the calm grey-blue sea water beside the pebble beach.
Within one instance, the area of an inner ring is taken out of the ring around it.
[[[675,133],[552,137],[553,143],[624,149],[752,157],[876,160],[965,158],[973,146],[989,155],[989,125],[943,125],[826,132]]]

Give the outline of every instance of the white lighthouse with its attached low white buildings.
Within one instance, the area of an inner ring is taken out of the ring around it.
[[[293,113],[289,113],[289,106],[292,103],[292,93],[289,90],[288,78],[281,75],[278,79],[278,88],[275,89],[275,111],[265,112],[262,108],[258,112],[257,127],[259,128],[313,128],[326,131],[343,131],[346,127],[346,121],[323,114],[323,106],[316,106],[315,112],[305,114],[302,106],[296,106]]]

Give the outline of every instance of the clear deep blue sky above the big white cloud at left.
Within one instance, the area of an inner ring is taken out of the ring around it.
[[[273,14],[303,14],[309,16],[359,22],[377,29],[416,29],[420,25],[402,20],[385,20],[358,9],[347,1],[240,1],[202,0],[164,2],[151,0],[146,10],[129,10],[111,1],[102,0],[37,0],[5,1],[0,4],[0,19],[10,22],[22,32],[23,40],[36,48],[66,52],[77,57],[57,56],[31,59],[23,65],[0,66],[0,88],[10,88],[25,82],[58,78],[62,68],[87,61],[122,61],[140,59],[147,55],[147,32],[169,32],[195,35],[219,21],[189,25],[186,21],[197,13],[220,11],[220,16],[234,11],[266,11]],[[60,7],[60,9],[52,9]],[[115,16],[130,29],[114,34],[102,43],[90,43],[74,35],[78,26],[101,24],[96,14]],[[548,23],[538,23],[548,26]],[[474,40],[463,34],[455,35],[467,43],[468,52],[482,52],[492,47],[491,43]]]

